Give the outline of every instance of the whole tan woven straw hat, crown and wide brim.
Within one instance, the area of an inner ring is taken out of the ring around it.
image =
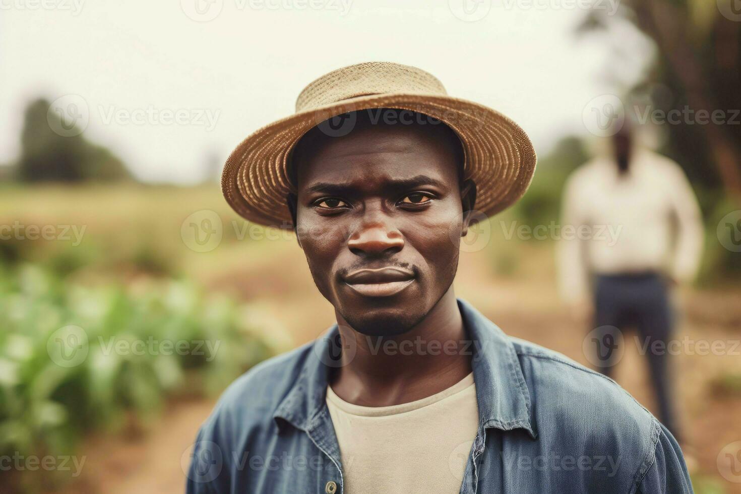
[[[293,116],[242,141],[222,174],[227,202],[255,223],[291,227],[286,196],[296,193],[288,178],[296,142],[317,125],[330,136],[346,135],[354,122],[345,113],[383,107],[423,113],[456,132],[465,154],[464,176],[476,182],[475,208],[486,216],[511,206],[528,188],[535,150],[514,121],[481,104],[448,96],[442,83],[424,70],[368,62],[316,79],[299,94]],[[332,117],[338,118],[328,120]]]

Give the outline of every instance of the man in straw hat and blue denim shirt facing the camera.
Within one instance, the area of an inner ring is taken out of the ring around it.
[[[691,493],[677,442],[614,381],[510,338],[453,278],[460,238],[525,193],[532,144],[415,67],[316,79],[222,176],[292,228],[336,324],[235,381],[188,493]]]

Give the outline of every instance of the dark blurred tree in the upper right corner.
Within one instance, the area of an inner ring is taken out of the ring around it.
[[[723,1],[728,3],[724,10]],[[626,0],[623,19],[633,22],[656,44],[659,56],[647,83],[668,88],[662,110],[689,107],[722,112],[724,124],[683,121],[668,125],[665,152],[679,161],[695,184],[725,188],[741,202],[741,22],[732,20],[736,0]],[[594,10],[580,32],[599,30],[608,16]],[[716,201],[720,201],[717,194]],[[714,207],[716,204],[708,204]]]

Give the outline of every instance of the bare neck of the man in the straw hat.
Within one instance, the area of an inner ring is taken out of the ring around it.
[[[356,340],[356,353],[332,378],[345,401],[370,407],[408,403],[439,393],[471,372],[469,346],[453,286],[406,333],[365,336],[337,313],[342,338]],[[348,334],[352,332],[353,334]]]

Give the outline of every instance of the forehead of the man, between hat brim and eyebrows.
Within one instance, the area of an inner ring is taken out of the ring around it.
[[[299,193],[317,181],[371,187],[419,174],[457,184],[459,164],[453,144],[433,126],[375,126],[348,136],[320,136],[296,159]]]

